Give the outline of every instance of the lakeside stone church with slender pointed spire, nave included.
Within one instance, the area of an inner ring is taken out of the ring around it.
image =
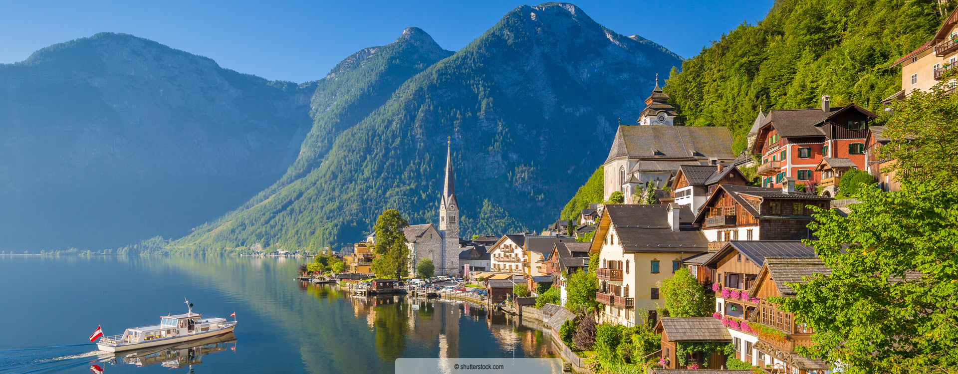
[[[459,203],[452,177],[452,145],[446,143],[445,180],[439,200],[439,230],[432,224],[412,225],[405,229],[409,247],[409,275],[424,258],[432,260],[435,275],[459,275]]]

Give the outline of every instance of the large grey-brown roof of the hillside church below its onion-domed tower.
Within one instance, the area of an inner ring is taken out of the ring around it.
[[[605,163],[619,157],[734,160],[725,127],[620,125]]]

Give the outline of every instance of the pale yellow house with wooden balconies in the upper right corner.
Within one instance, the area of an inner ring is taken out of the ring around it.
[[[943,79],[943,75],[953,70],[958,63],[958,9],[952,11],[945,19],[945,23],[938,29],[938,33],[918,47],[912,53],[901,57],[892,67],[901,67],[901,91],[891,99],[901,99],[911,95],[912,91],[929,91],[932,86]],[[955,79],[948,79],[954,91]]]

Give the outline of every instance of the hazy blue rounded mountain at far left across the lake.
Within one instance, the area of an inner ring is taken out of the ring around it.
[[[0,250],[179,236],[275,183],[314,86],[98,33],[0,64]]]

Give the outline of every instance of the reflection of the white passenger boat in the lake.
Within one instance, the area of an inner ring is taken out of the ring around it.
[[[176,345],[167,345],[147,348],[135,353],[126,353],[117,356],[124,363],[137,366],[161,364],[168,368],[180,368],[203,363],[202,357],[211,353],[227,349],[236,352],[236,338],[233,333],[200,341],[184,342]]]

